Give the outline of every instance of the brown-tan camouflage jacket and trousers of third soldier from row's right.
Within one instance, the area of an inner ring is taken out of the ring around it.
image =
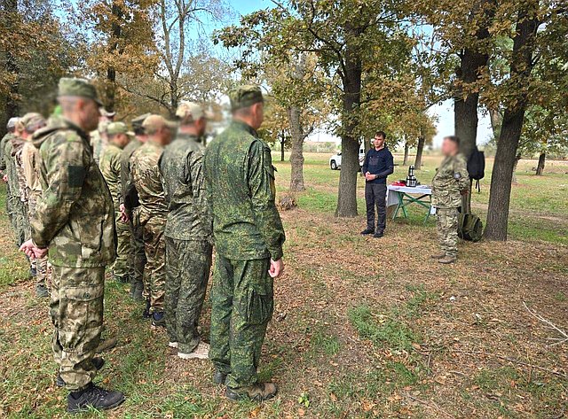
[[[168,206],[162,187],[158,160],[163,147],[148,141],[132,153],[130,170],[138,191],[140,207],[136,221],[144,231],[146,266],[144,280],[146,299],[150,300],[150,313],[163,312],[166,282],[166,244],[163,231],[166,227]]]

